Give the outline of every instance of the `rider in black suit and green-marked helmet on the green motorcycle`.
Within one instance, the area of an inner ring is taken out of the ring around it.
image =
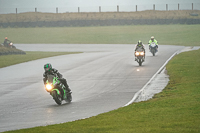
[[[58,72],[58,70],[56,70],[55,68],[52,68],[52,65],[51,65],[50,63],[47,63],[47,64],[44,65],[44,70],[45,70],[45,72],[44,72],[44,74],[43,74],[43,77],[44,77],[44,78],[43,78],[44,84],[46,83],[47,75],[48,75],[48,74],[57,75],[57,76],[58,76],[58,79],[64,84],[67,93],[71,93],[71,89],[69,88],[66,79],[62,77],[62,74],[60,74],[60,73]]]

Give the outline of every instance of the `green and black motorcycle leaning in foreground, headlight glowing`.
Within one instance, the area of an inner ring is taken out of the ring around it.
[[[66,92],[64,84],[54,75],[47,75],[45,89],[58,105],[61,105],[63,100],[68,103],[72,101],[71,93]]]

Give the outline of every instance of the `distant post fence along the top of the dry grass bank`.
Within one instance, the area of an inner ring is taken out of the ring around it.
[[[45,13],[70,13],[70,12],[134,12],[144,10],[200,10],[200,3],[177,3],[177,4],[148,4],[134,6],[97,6],[97,7],[55,7],[55,8],[2,8],[0,14],[45,12]]]

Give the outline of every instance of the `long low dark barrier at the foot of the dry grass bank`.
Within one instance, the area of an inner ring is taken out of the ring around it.
[[[111,25],[200,24],[200,19],[106,19],[0,23],[0,27],[83,27]]]

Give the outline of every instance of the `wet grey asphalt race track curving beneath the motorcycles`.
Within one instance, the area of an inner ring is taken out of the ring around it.
[[[80,51],[0,69],[0,132],[84,119],[126,105],[182,46],[160,45],[139,66],[134,45],[17,44],[24,51]],[[57,105],[44,89],[43,65],[51,63],[67,79],[72,103]]]

